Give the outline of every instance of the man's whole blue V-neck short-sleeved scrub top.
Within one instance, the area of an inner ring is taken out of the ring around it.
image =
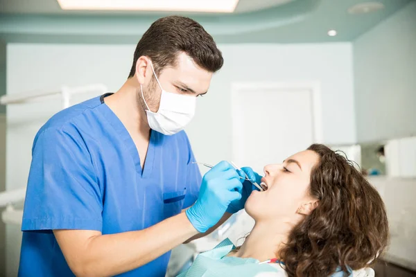
[[[32,148],[19,276],[74,276],[53,229],[146,229],[198,197],[201,175],[187,135],[152,131],[144,169],[104,96],[55,114]],[[114,253],[116,255],[116,253]],[[165,276],[170,252],[120,276]]]

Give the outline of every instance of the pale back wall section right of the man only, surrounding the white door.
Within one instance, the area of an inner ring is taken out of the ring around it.
[[[321,85],[324,142],[354,143],[351,44],[227,45],[220,49],[225,65],[214,76],[209,95],[198,99],[196,120],[189,127],[196,151],[205,148],[205,152],[196,153],[198,159],[215,163],[218,159],[231,158],[232,82],[317,80]],[[259,130],[256,126],[247,126],[247,132]],[[211,151],[207,145],[216,145],[218,152]]]

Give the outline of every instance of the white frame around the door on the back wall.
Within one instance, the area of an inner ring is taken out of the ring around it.
[[[323,129],[322,129],[322,101],[321,101],[321,86],[318,81],[307,81],[307,82],[234,82],[231,84],[231,120],[232,120],[232,141],[236,141],[237,134],[236,128],[234,127],[235,107],[233,105],[233,99],[237,96],[240,91],[254,89],[302,89],[311,91],[312,97],[312,129],[313,129],[313,143],[323,142]],[[232,143],[232,158],[236,157],[236,143]]]

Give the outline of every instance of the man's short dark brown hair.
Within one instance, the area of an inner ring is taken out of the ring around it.
[[[186,53],[202,69],[213,73],[224,63],[214,39],[198,22],[189,17],[162,17],[153,22],[137,44],[128,78],[135,75],[141,56],[150,57],[159,74],[164,67],[176,65],[179,53]]]

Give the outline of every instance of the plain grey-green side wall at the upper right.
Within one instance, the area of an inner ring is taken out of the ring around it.
[[[359,142],[416,134],[416,2],[354,42]]]

